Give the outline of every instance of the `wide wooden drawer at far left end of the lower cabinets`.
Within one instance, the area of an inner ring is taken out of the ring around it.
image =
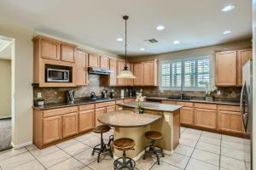
[[[77,106],[44,111],[44,117],[58,116],[79,111]]]

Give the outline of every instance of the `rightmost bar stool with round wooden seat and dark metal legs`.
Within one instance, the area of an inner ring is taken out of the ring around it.
[[[148,155],[154,155],[154,156],[156,156],[157,164],[160,165],[159,155],[165,157],[165,154],[164,154],[164,151],[162,148],[155,146],[155,142],[157,140],[163,139],[162,134],[159,132],[155,132],[155,131],[149,131],[149,132],[145,133],[145,136],[147,139],[150,140],[150,143],[145,148],[145,154],[143,156],[143,160],[146,159],[146,156],[148,156]],[[148,148],[148,150],[147,150],[147,148]]]

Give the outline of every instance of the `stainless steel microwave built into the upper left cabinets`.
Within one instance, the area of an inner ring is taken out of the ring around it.
[[[69,71],[47,68],[46,82],[69,82]]]

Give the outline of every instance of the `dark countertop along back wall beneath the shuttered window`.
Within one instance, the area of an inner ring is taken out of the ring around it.
[[[207,103],[207,104],[217,104],[217,105],[240,105],[240,102],[237,101],[229,101],[229,100],[213,100],[207,101],[205,99],[167,99],[166,97],[146,97],[146,99],[159,99],[159,100],[170,100],[170,101],[185,101],[185,102],[194,102],[194,103]]]

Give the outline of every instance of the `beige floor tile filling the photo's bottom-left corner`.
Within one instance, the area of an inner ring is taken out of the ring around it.
[[[32,156],[29,152],[25,152],[20,155],[12,156],[8,159],[0,161],[0,166],[3,168],[3,170],[9,170],[34,160],[34,156]]]

